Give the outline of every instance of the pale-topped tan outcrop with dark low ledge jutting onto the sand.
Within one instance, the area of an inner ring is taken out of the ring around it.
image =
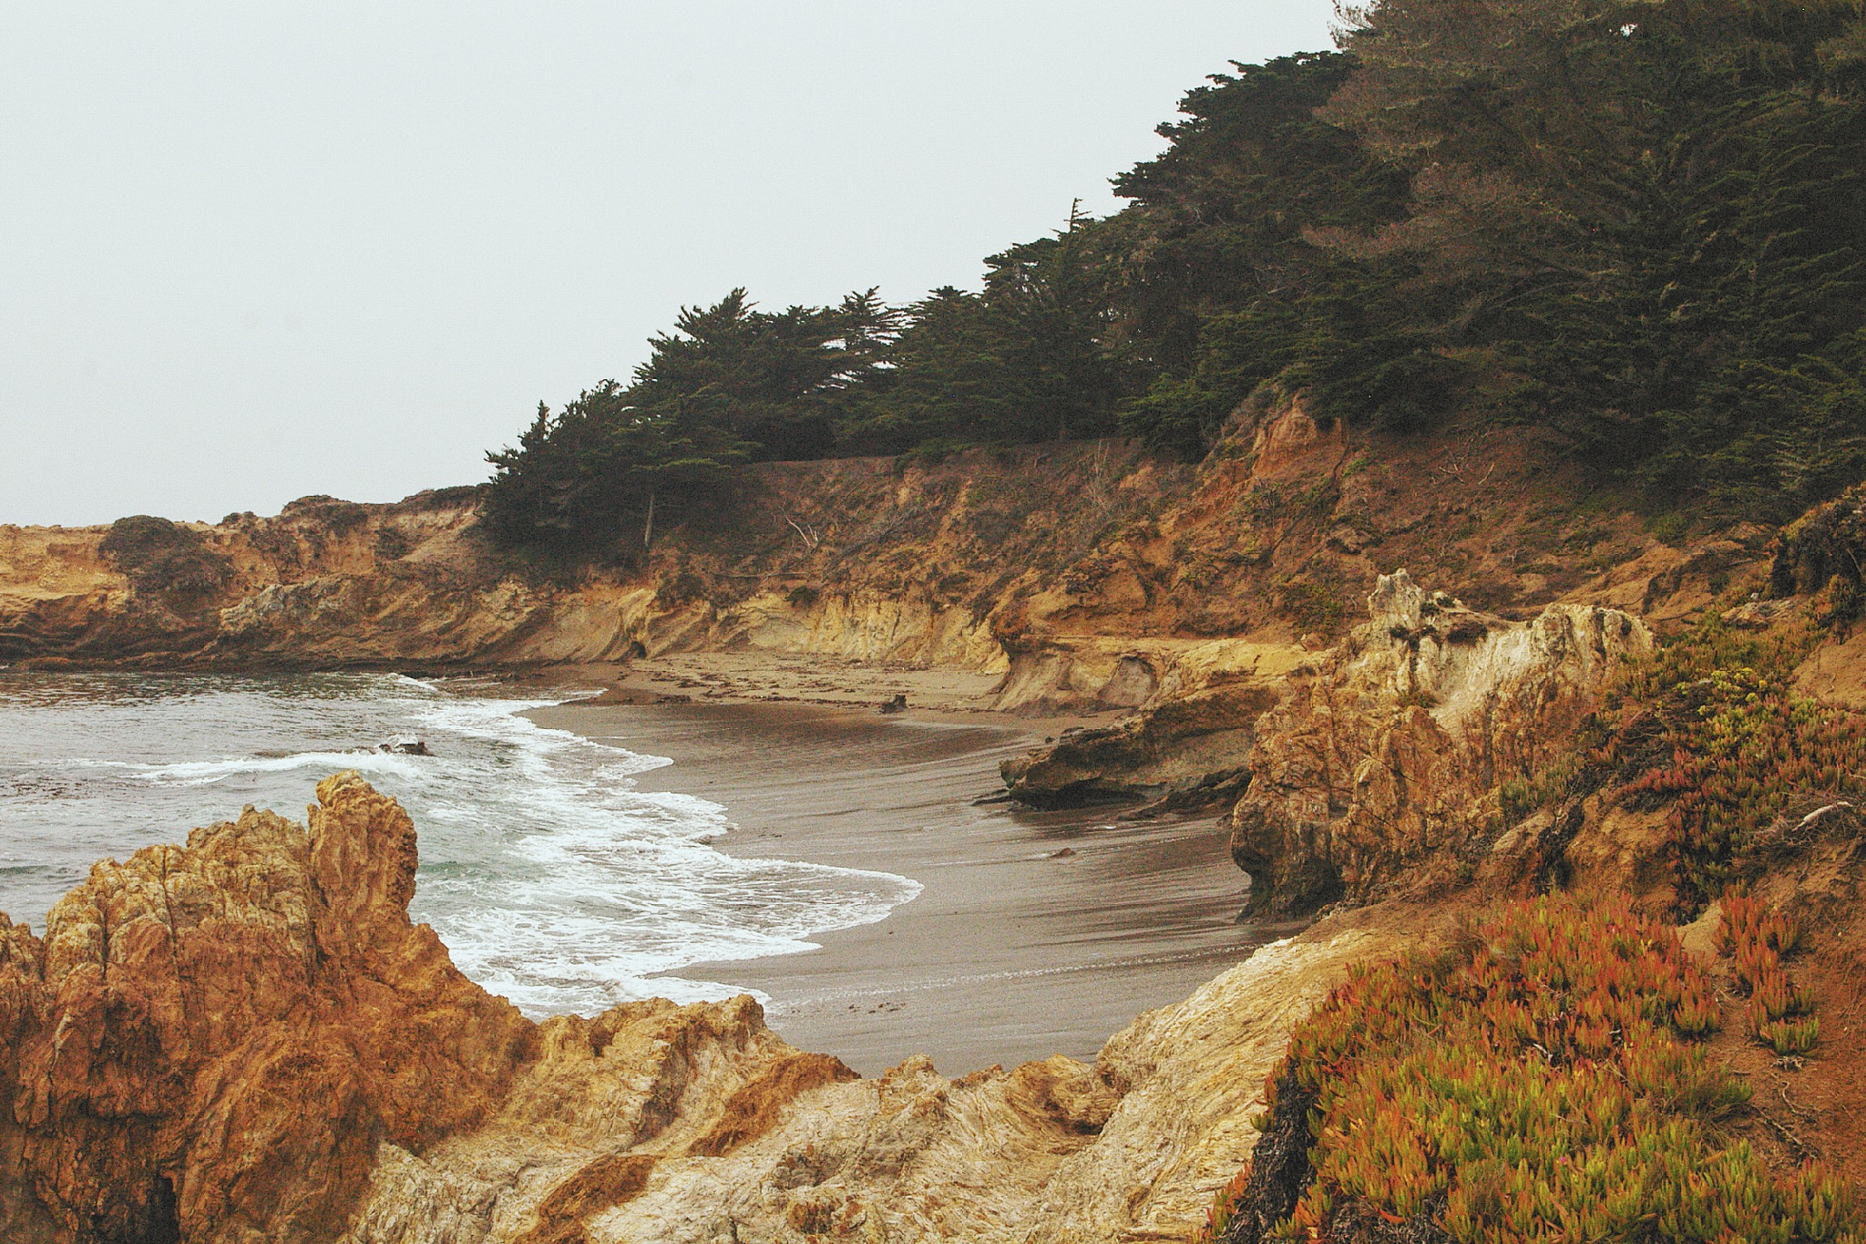
[[[1653,854],[1625,822],[1601,832],[1599,806],[1584,832],[1521,815],[1556,793],[1575,729],[1651,651],[1642,621],[1581,604],[1510,621],[1407,571],[1377,580],[1368,612],[1321,653],[1189,658],[1123,722],[1006,761],[1006,785],[1037,806],[1153,795],[1125,815],[1228,809],[1248,910],[1269,919],[1553,867],[1627,878]]]

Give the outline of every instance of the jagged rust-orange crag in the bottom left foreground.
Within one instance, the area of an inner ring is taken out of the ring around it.
[[[414,828],[355,774],[99,864],[0,953],[6,1238],[328,1240],[379,1143],[485,1119],[532,1026],[411,925]],[[177,1235],[179,1233],[179,1235]]]

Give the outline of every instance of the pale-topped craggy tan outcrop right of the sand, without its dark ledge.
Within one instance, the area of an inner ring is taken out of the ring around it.
[[[1254,914],[1476,877],[1510,828],[1510,783],[1539,804],[1530,793],[1558,780],[1612,673],[1651,647],[1620,610],[1553,604],[1511,623],[1405,571],[1383,574],[1368,608],[1372,621],[1258,724],[1232,811]]]

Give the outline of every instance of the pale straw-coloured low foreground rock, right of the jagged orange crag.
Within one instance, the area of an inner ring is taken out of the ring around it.
[[[1256,1140],[1289,1026],[1349,959],[1394,946],[1388,931],[1344,927],[1260,949],[1140,1016],[1093,1065],[946,1078],[909,1059],[877,1080],[817,1074],[801,1099],[722,1110],[724,1087],[756,1100],[808,1056],[767,1052],[774,1071],[745,1078],[724,1074],[717,1046],[698,1050],[666,1093],[672,1123],[646,1134],[590,1108],[605,1093],[634,1100],[642,1046],[565,1041],[485,1128],[420,1158],[384,1147],[345,1244],[1185,1238]],[[741,1128],[746,1115],[769,1127]]]

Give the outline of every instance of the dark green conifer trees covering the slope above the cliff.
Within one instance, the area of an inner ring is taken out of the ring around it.
[[[1786,520],[1866,474],[1857,0],[1385,0],[1235,67],[1166,151],[911,306],[687,308],[491,455],[513,543],[651,543],[759,459],[1127,435],[1260,386],[1411,433],[1528,423],[1655,511]]]

